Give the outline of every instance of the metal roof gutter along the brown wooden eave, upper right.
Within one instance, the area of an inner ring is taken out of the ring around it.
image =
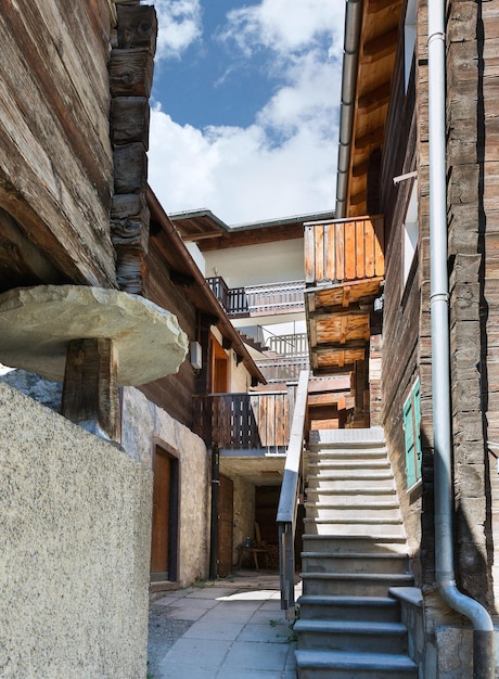
[[[350,167],[351,130],[354,127],[357,63],[359,60],[360,26],[363,0],[347,0],[345,9],[345,39],[343,47],[342,105],[340,110],[338,154],[336,174],[335,218],[346,215],[348,171]]]

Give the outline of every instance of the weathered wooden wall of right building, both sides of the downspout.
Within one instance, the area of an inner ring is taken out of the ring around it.
[[[492,8],[494,5],[494,8]],[[492,513],[499,509],[490,484],[487,439],[499,441],[499,209],[497,144],[499,105],[495,78],[499,24],[497,2],[448,3],[447,123],[448,226],[452,431],[457,509],[458,586],[494,608]],[[432,594],[434,573],[432,347],[430,318],[430,172],[427,8],[418,7],[415,105],[404,93],[401,69],[393,99],[382,167],[382,212],[387,235],[383,329],[383,422],[392,451],[402,511],[413,548],[421,537],[417,581],[425,587],[428,629],[448,612]],[[398,60],[401,64],[402,59]],[[410,87],[410,86],[409,86]],[[414,100],[412,100],[414,101]],[[396,143],[399,140],[399,143]],[[402,289],[404,220],[411,180],[393,177],[417,169],[418,267]],[[401,407],[421,382],[422,484],[405,491]],[[447,616],[447,617],[446,617]]]

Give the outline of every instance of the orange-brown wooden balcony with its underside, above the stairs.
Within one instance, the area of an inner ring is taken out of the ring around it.
[[[305,226],[305,309],[315,374],[367,359],[373,302],[384,281],[383,217]]]

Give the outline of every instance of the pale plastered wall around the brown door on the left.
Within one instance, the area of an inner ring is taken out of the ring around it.
[[[208,574],[209,460],[203,440],[132,387],[123,390],[121,445],[152,469],[155,445],[179,460],[179,575],[185,587]]]

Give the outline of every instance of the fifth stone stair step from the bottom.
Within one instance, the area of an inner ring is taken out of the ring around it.
[[[404,553],[302,552],[302,564],[314,573],[408,573]]]

